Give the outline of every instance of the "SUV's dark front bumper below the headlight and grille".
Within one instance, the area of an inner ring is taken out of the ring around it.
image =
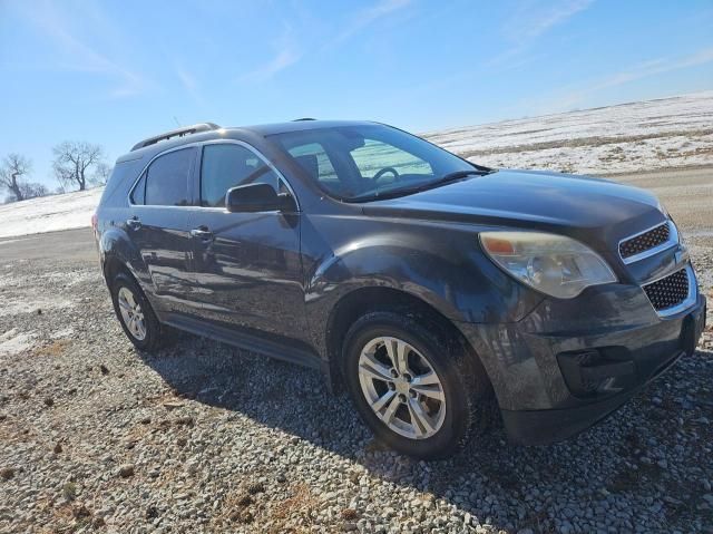
[[[641,289],[590,288],[546,300],[509,324],[461,323],[492,382],[509,437],[541,445],[604,419],[685,353],[705,324],[705,298],[662,318]]]

